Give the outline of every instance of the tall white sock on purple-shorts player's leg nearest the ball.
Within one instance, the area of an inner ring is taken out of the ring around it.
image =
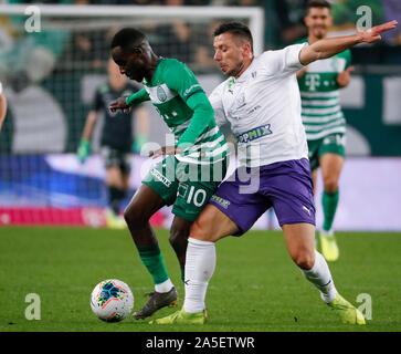
[[[186,300],[183,301],[186,312],[194,313],[205,309],[204,298],[214,269],[214,242],[188,238],[184,277]]]

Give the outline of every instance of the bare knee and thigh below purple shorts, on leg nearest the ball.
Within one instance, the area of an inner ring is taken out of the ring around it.
[[[240,229],[233,220],[213,205],[208,204],[192,223],[190,237],[202,241],[215,242],[239,231]]]

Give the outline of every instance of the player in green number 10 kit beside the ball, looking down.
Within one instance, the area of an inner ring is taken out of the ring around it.
[[[173,205],[169,240],[183,279],[190,226],[225,176],[229,147],[205,93],[184,64],[159,58],[146,35],[129,28],[115,34],[112,56],[120,72],[141,82],[144,88],[119,97],[109,110],[126,112],[151,101],[175,136],[172,150],[169,146],[152,154],[168,156],[144,178],[124,212],[139,258],[155,282],[148,302],[134,313],[135,319],[145,319],[178,300],[149,219],[161,207]]]

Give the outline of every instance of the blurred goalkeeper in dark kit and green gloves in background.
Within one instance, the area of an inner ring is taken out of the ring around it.
[[[106,221],[109,228],[125,228],[120,216],[120,204],[129,188],[131,153],[139,153],[148,134],[148,113],[138,106],[134,114],[110,113],[108,105],[122,95],[131,95],[140,90],[138,84],[129,83],[119,73],[118,66],[110,59],[107,62],[108,81],[96,90],[92,110],[89,111],[82,134],[77,157],[83,164],[91,154],[91,137],[99,113],[105,119],[102,129],[101,154],[106,167],[106,185],[108,189],[108,207]],[[133,139],[133,117],[138,118],[139,132]]]

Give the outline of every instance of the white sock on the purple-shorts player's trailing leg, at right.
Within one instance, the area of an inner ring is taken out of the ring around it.
[[[305,278],[319,291],[323,301],[329,303],[336,298],[337,290],[325,258],[315,250],[315,263],[309,270],[302,270]]]

